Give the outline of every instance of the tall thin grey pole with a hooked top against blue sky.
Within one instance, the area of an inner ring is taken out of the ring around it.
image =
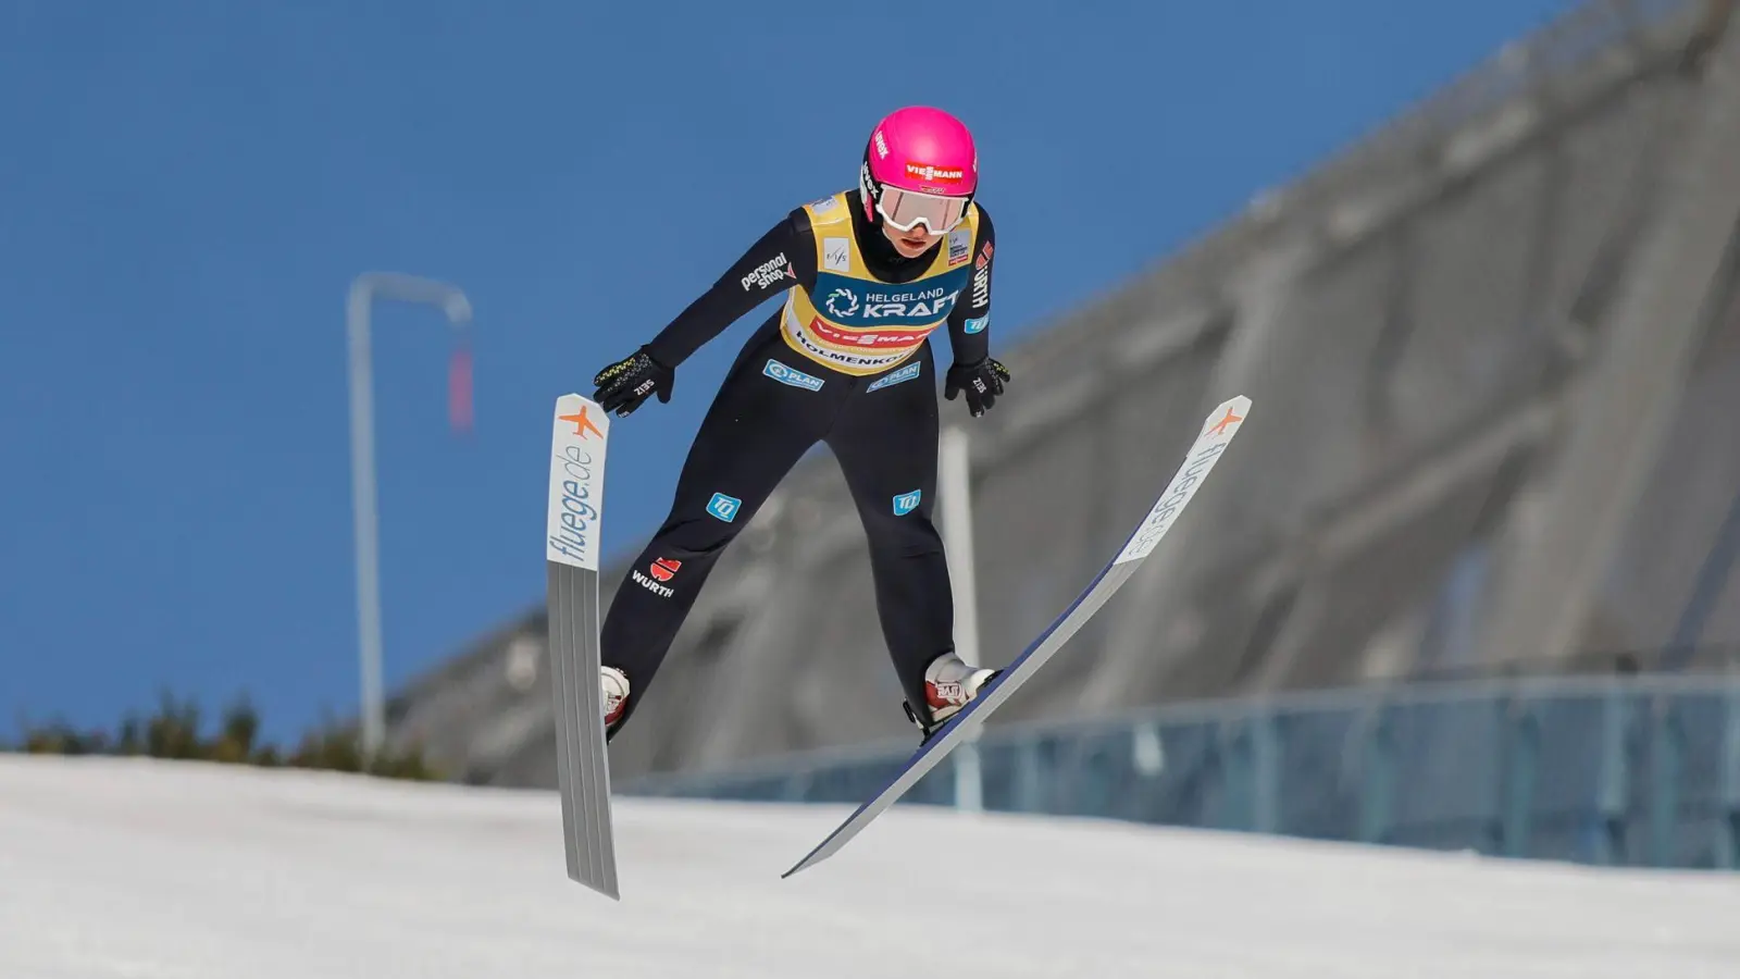
[[[381,563],[379,521],[374,488],[374,387],[369,350],[369,312],[374,296],[407,303],[437,305],[454,329],[472,322],[472,303],[454,286],[398,275],[365,272],[350,284],[346,329],[350,334],[350,463],[351,507],[357,524],[357,645],[362,672],[362,749],[374,756],[386,737],[386,706],[381,693]]]

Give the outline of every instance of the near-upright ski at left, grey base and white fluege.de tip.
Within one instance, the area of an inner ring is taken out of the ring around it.
[[[609,415],[595,401],[578,394],[557,399],[550,435],[545,601],[567,876],[621,901],[604,692],[599,688],[599,533],[609,432]]]

